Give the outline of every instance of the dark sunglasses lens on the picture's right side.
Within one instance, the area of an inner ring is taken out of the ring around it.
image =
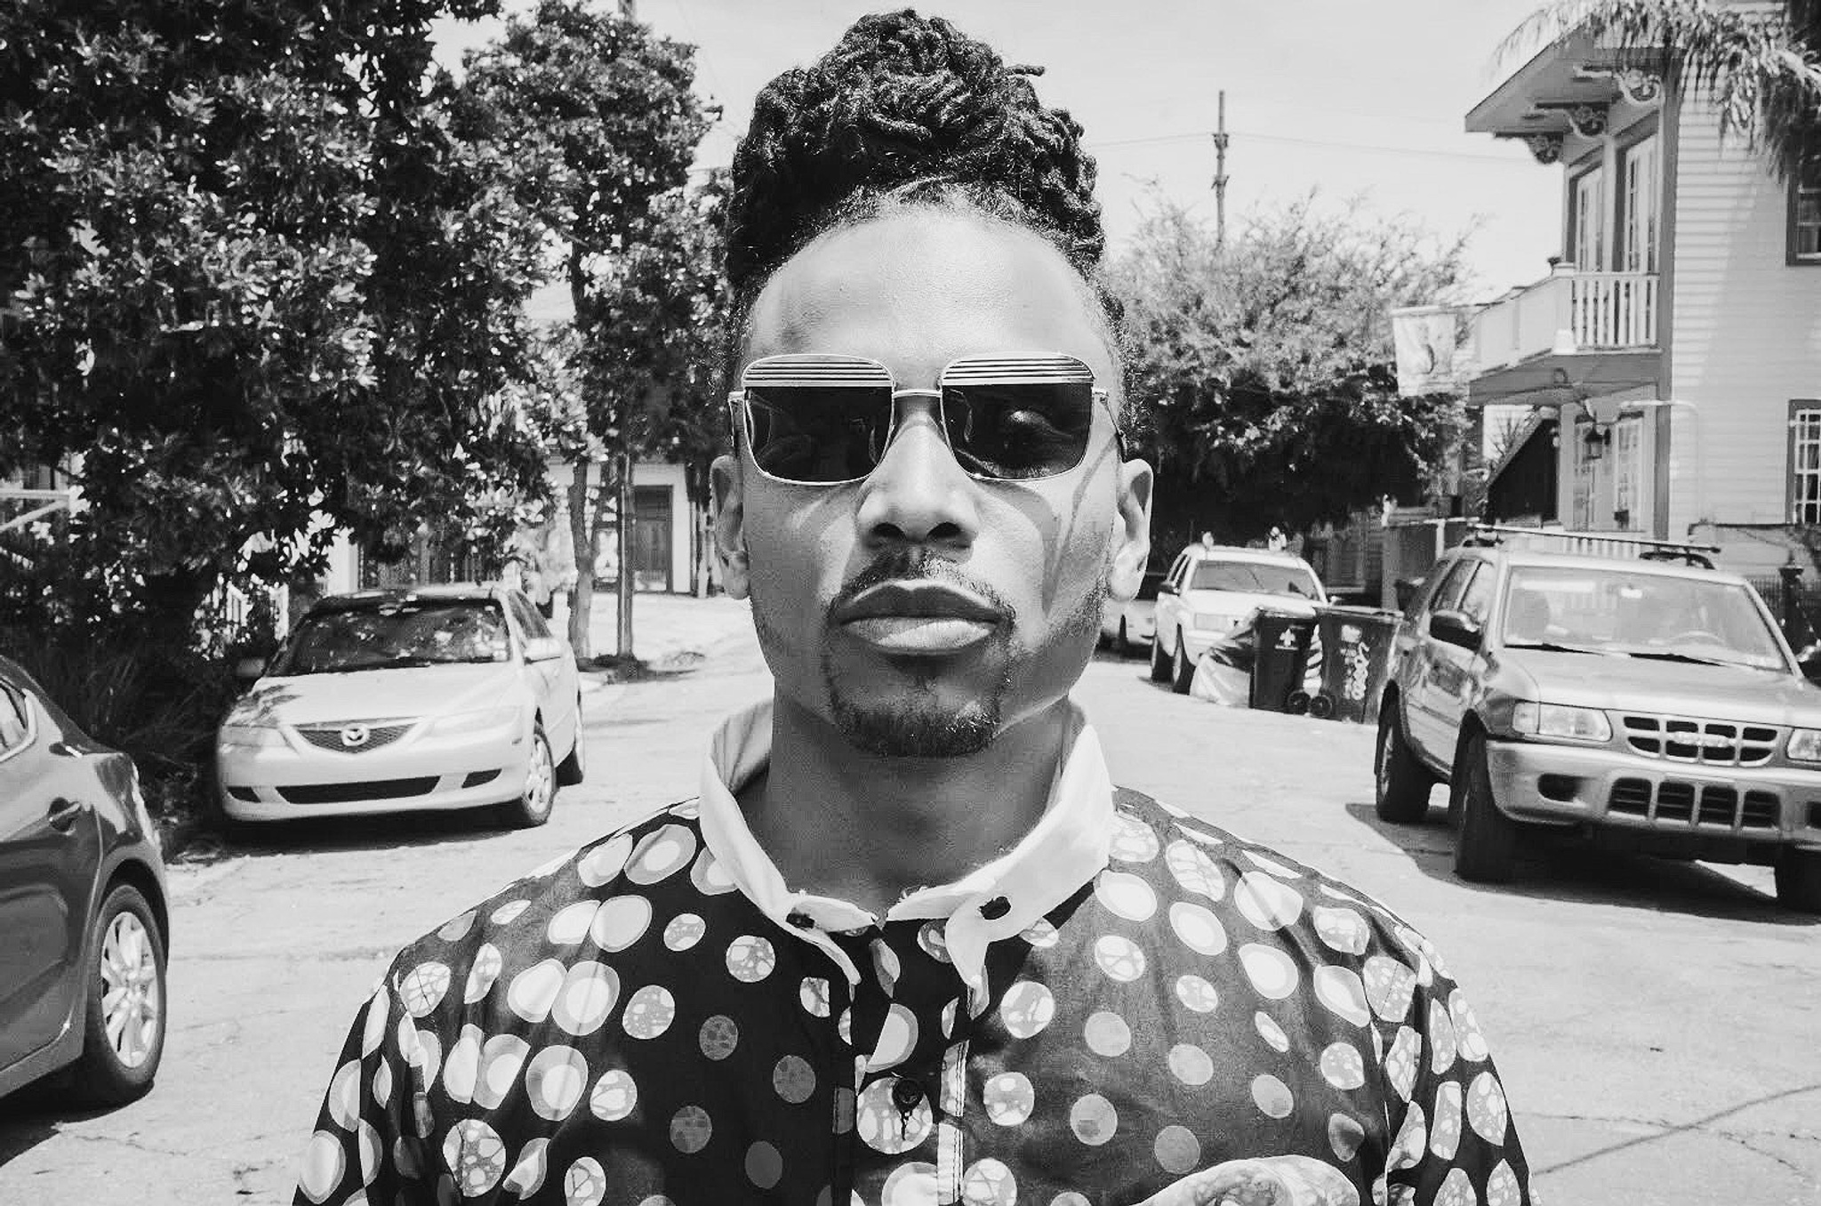
[[[969,474],[1053,477],[1087,454],[1094,388],[1087,381],[949,386],[941,410],[949,446]]]

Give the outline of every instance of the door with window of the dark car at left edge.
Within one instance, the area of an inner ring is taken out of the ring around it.
[[[55,1040],[82,986],[100,865],[93,778],[0,676],[0,1068]]]

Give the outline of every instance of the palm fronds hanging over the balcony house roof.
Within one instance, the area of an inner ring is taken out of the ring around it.
[[[1821,129],[1821,0],[1770,9],[1710,0],[1553,0],[1499,53],[1508,56],[1539,38],[1592,38],[1615,46],[1621,67],[1661,77],[1675,71],[1684,89],[1712,91],[1721,129],[1763,148],[1779,175],[1796,169]]]

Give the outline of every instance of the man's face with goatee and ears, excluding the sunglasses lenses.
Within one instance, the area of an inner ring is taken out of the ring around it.
[[[1062,255],[971,213],[898,211],[788,261],[754,306],[741,364],[805,352],[869,357],[921,390],[958,357],[1060,352],[1118,404],[1118,368]],[[723,457],[716,536],[779,694],[903,756],[974,752],[1065,696],[1109,581],[1129,598],[1147,548],[1149,470],[1118,461],[1113,430],[1096,406],[1082,465],[1020,483],[969,477],[921,399],[900,403],[860,483],[785,485],[745,450]]]

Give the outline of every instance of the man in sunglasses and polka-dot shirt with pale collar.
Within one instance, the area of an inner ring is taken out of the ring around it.
[[[1433,947],[1114,789],[1069,701],[1151,492],[1080,128],[865,18],[761,93],[728,231],[716,545],[774,698],[399,956],[299,1201],[1528,1201]]]

